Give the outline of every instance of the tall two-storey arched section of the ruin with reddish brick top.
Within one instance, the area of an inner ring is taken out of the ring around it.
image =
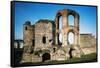
[[[74,17],[74,25],[69,25],[68,16],[72,15]],[[59,29],[59,19],[62,17],[62,29]],[[56,24],[56,37],[55,41],[56,44],[59,45],[59,34],[62,34],[62,46],[66,47],[68,49],[69,43],[68,43],[68,34],[72,32],[74,34],[74,43],[71,47],[73,47],[78,53],[80,53],[79,48],[79,14],[70,9],[63,9],[59,10],[57,12],[56,18],[55,18],[55,24]]]

